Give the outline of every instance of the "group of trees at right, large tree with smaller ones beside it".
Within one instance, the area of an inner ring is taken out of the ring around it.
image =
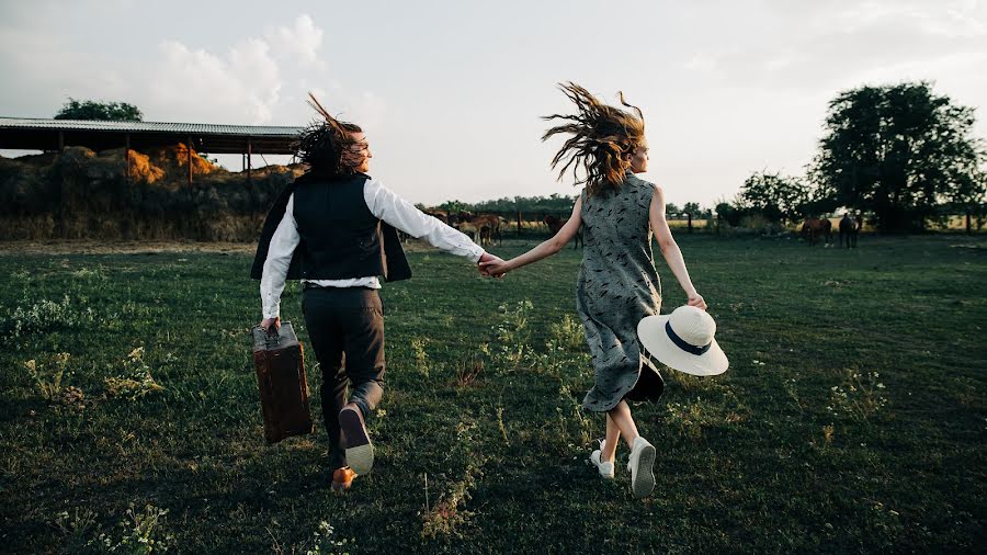
[[[759,215],[794,223],[842,208],[880,230],[914,231],[965,215],[987,216],[987,148],[972,134],[974,109],[938,95],[929,82],[860,87],[829,102],[819,151],[805,175],[751,174],[719,218]]]

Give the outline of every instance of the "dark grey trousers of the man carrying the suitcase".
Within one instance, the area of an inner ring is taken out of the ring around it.
[[[368,419],[384,394],[384,307],[376,290],[306,286],[302,312],[322,371],[322,421],[334,469],[347,465],[339,411],[354,403]]]

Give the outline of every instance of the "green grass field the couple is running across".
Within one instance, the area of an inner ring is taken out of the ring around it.
[[[383,292],[377,464],[348,495],[320,422],[263,442],[249,256],[2,256],[0,551],[982,550],[987,238],[679,241],[730,371],[666,371],[635,408],[659,453],[644,501],[586,463],[578,251],[501,281],[410,254]],[[684,297],[659,273],[668,313]],[[307,342],[299,296],[283,318]],[[308,375],[316,416],[314,356]]]

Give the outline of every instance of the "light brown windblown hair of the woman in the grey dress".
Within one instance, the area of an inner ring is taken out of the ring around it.
[[[634,113],[600,102],[571,81],[559,84],[559,89],[576,104],[578,113],[542,117],[549,122],[567,122],[546,131],[542,140],[558,134],[571,135],[552,159],[552,169],[566,160],[558,179],[561,180],[566,171],[572,168],[576,184],[585,183],[589,195],[599,194],[608,186],[620,188],[624,182],[624,172],[631,167],[625,156],[644,140],[644,114],[640,109],[624,102],[623,93],[619,93],[621,104],[634,109]],[[582,179],[578,172],[580,167],[585,172]]]

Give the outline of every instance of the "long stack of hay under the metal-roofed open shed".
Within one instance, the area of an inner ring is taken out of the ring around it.
[[[126,152],[68,147],[0,157],[0,223],[15,231],[0,239],[254,241],[274,197],[303,172],[270,166],[248,181],[177,145],[129,150],[126,174]]]

